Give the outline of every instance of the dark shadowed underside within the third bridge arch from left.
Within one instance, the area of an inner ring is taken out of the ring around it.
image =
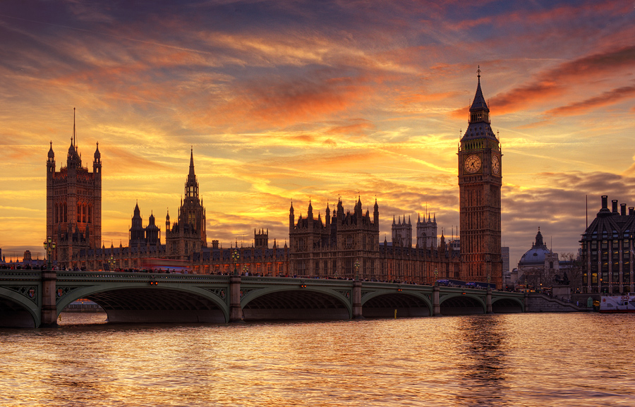
[[[337,298],[316,291],[277,291],[250,300],[245,320],[348,320],[349,310]]]

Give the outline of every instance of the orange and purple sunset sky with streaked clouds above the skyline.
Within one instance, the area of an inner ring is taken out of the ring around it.
[[[0,248],[43,257],[46,160],[103,162],[102,241],[135,202],[174,219],[193,148],[207,240],[289,238],[341,196],[459,224],[457,143],[481,85],[512,267],[538,227],[574,252],[600,195],[635,206],[633,1],[3,1]],[[414,229],[414,226],[413,226]],[[162,241],[164,241],[162,236]]]

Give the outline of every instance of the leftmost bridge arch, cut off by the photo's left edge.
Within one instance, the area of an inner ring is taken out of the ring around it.
[[[33,295],[35,298],[31,300],[18,291],[0,287],[0,327],[39,327],[42,317],[39,288]]]

